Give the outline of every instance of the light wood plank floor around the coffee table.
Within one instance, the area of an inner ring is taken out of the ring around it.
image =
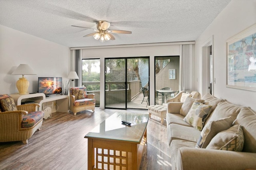
[[[52,113],[41,130],[28,139],[0,143],[1,170],[87,170],[87,139],[90,130],[115,112],[144,110],[95,109],[72,113]],[[170,170],[170,148],[167,145],[166,125],[152,115],[147,127],[141,170]]]

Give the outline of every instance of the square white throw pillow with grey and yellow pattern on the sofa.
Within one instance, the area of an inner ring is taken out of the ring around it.
[[[192,125],[198,131],[202,131],[206,117],[208,117],[211,109],[211,105],[194,102],[183,120]]]

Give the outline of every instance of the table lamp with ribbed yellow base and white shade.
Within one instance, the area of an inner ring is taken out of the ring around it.
[[[24,77],[24,75],[36,75],[34,70],[28,64],[20,64],[13,72],[13,75],[22,75],[22,78],[16,82],[16,87],[19,94],[27,94],[29,81]]]

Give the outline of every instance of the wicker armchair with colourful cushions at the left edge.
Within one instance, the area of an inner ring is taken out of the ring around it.
[[[0,111],[0,142],[22,141],[27,144],[28,139],[42,126],[44,112],[36,111],[39,106],[39,104],[25,104],[16,106],[15,111]],[[32,119],[28,119],[30,115],[33,119],[36,116],[38,120],[32,122]],[[27,119],[26,125],[28,121],[31,122],[31,127],[24,127],[25,119]]]

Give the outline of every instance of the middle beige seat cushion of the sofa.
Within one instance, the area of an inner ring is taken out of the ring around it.
[[[170,124],[171,137],[170,141],[174,139],[183,139],[186,141],[196,142],[200,137],[200,131],[194,127],[182,126],[178,124]]]

